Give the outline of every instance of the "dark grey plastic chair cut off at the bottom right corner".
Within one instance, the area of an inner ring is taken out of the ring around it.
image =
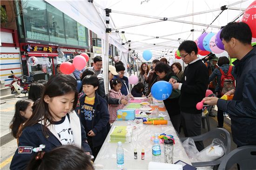
[[[248,145],[232,150],[223,158],[218,170],[229,170],[238,163],[240,170],[256,170],[256,146]]]

